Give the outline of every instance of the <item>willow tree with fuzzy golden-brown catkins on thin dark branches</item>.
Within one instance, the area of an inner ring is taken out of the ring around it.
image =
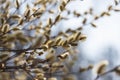
[[[119,1],[115,0],[115,5],[110,5],[107,11],[97,16],[93,14],[93,8],[83,14],[68,10],[66,6],[74,0],[31,0],[27,3],[28,1],[0,1],[1,80],[74,80],[74,75],[90,69],[98,75],[95,80],[109,72],[120,74],[119,66],[105,71],[107,61],[97,67],[90,64],[86,68],[79,68],[78,72],[72,70],[79,58],[76,47],[86,39],[82,27],[96,27],[94,21],[110,16],[111,11],[119,12],[116,9]],[[52,35],[53,27],[69,19],[62,13],[81,17],[82,25]],[[93,20],[88,22],[87,15],[93,17]]]

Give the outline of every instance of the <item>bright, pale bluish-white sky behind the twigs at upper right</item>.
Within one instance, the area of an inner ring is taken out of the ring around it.
[[[105,11],[109,5],[113,5],[113,0],[76,0],[70,3],[67,8],[77,10],[77,12],[84,12],[90,7],[94,8],[95,14]],[[120,6],[116,7],[120,8]],[[89,59],[96,60],[100,58],[102,53],[109,48],[114,47],[120,54],[120,13],[111,12],[111,16],[103,17],[96,21],[97,28],[90,25],[85,26],[83,33],[87,35],[87,40],[83,42],[80,47],[82,52],[88,56]],[[80,19],[71,18],[64,22],[64,28],[75,28],[80,25]]]

